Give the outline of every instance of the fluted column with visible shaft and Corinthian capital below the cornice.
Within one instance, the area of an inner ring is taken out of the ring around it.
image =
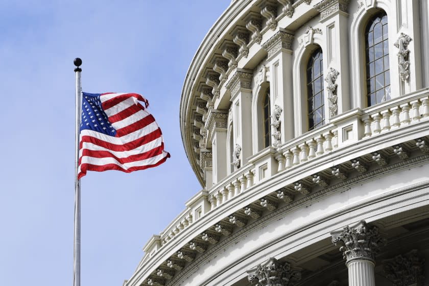
[[[342,244],[340,251],[346,259],[349,286],[375,286],[375,256],[384,244],[378,229],[365,221],[354,226],[346,226],[341,231],[331,233],[332,243]]]

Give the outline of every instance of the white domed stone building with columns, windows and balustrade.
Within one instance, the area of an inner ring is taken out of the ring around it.
[[[124,285],[429,285],[428,15],[232,1],[182,91],[202,190]]]

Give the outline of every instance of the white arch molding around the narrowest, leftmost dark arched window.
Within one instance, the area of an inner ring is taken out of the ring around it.
[[[264,145],[264,112],[263,103],[266,94],[270,93],[270,82],[263,82],[256,88],[255,97],[252,101],[252,140],[253,140],[253,154],[263,150]],[[270,106],[273,106],[272,97],[270,97]],[[271,115],[271,110],[269,111]],[[271,130],[271,126],[269,126]],[[270,132],[271,134],[271,132]],[[271,136],[271,135],[270,135]]]

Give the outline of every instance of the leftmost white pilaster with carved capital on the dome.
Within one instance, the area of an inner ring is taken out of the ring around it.
[[[207,138],[211,142],[213,184],[226,177],[226,120],[228,114],[226,110],[210,109],[204,128],[207,130]],[[210,188],[211,186],[207,186]]]

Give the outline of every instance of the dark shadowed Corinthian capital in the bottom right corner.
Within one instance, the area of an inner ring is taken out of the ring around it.
[[[393,286],[423,285],[424,259],[417,256],[417,250],[385,260],[384,271]]]

